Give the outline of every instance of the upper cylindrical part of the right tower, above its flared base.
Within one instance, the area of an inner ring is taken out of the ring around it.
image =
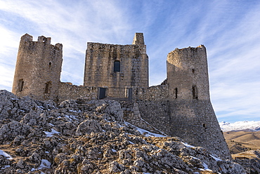
[[[209,100],[206,48],[176,48],[167,57],[169,97],[177,100]]]

